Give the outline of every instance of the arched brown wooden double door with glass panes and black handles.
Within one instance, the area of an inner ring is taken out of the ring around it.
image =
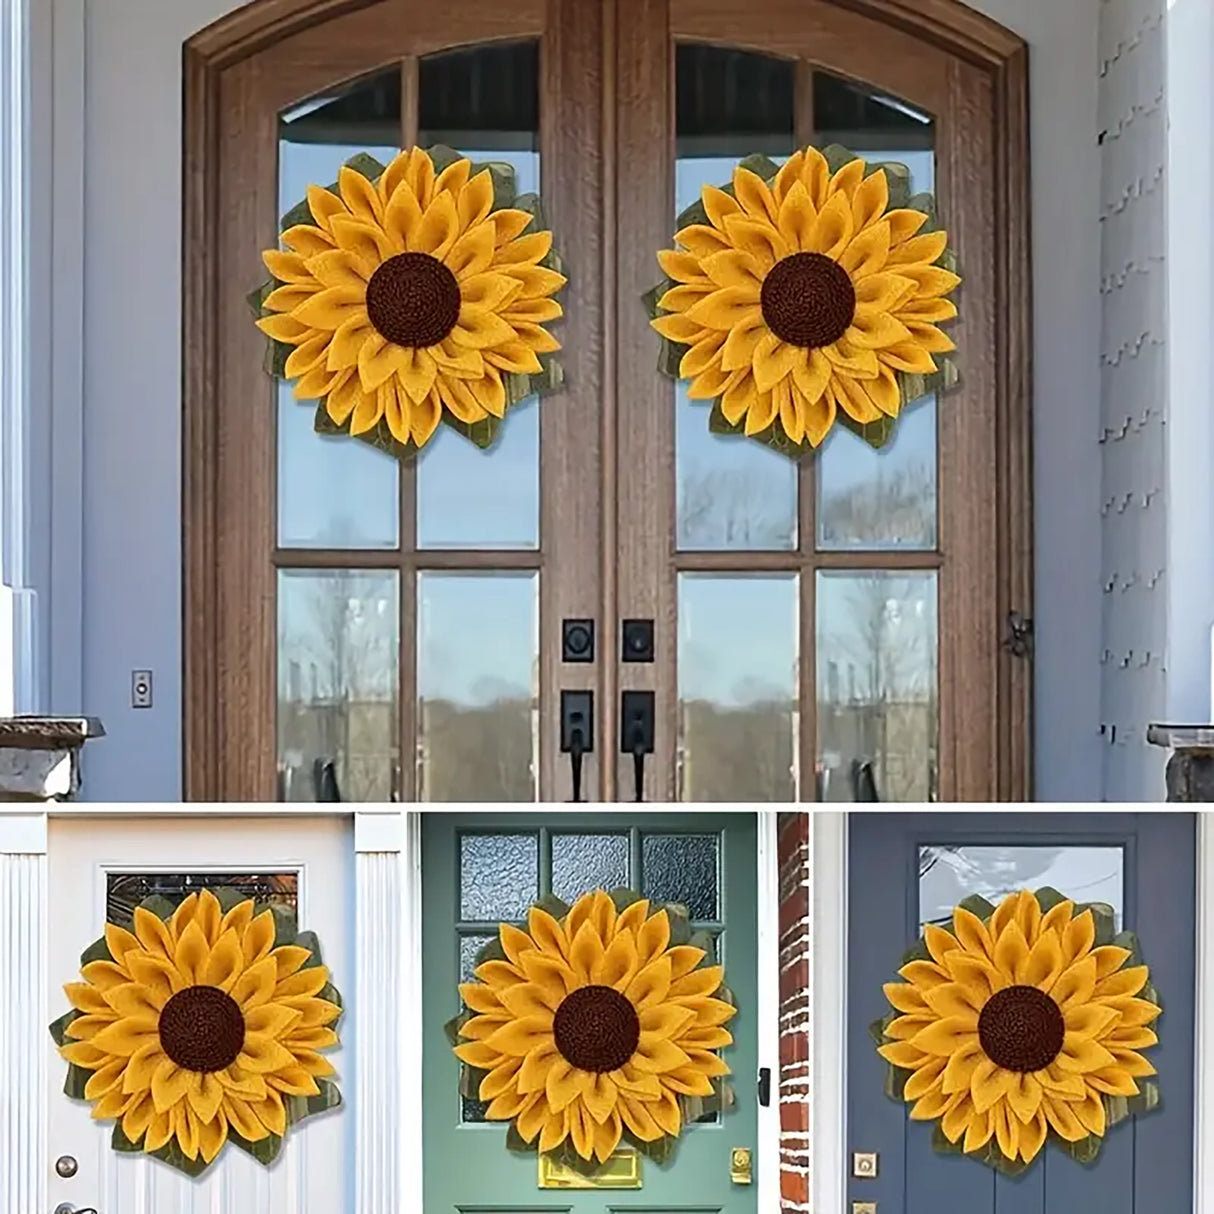
[[[1016,39],[943,0],[263,0],[186,68],[187,798],[568,800],[569,692],[586,800],[1031,795]],[[810,142],[935,192],[960,382],[798,465],[709,431],[642,296],[702,186]],[[438,143],[540,191],[565,386],[402,463],[313,431],[245,296],[310,183]]]

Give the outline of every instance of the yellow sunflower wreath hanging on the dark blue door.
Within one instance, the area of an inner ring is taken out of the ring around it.
[[[1087,1164],[1110,1128],[1158,1107],[1139,1051],[1158,1042],[1159,997],[1107,904],[1053,889],[998,908],[966,898],[898,975],[884,988],[894,1011],[870,1032],[886,1095],[936,1123],[937,1151],[1019,1175],[1053,1142]]]

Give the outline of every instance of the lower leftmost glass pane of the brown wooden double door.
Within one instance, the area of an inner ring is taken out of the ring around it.
[[[320,759],[335,762],[342,800],[390,800],[398,748],[395,577],[333,569],[291,577],[282,594],[289,601],[278,748],[287,799],[314,800]]]

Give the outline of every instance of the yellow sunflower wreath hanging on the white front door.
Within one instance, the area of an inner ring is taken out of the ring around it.
[[[316,936],[232,887],[154,895],[131,927],[107,923],[63,988],[63,1090],[115,1122],[115,1151],[197,1176],[234,1142],[268,1167],[291,1125],[341,1104],[318,1051],[342,1004]]]

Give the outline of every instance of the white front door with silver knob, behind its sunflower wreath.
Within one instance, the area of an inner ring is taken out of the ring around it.
[[[49,839],[50,1015],[69,1010],[63,983],[80,982],[80,954],[107,921],[130,925],[149,895],[180,902],[206,886],[290,906],[299,927],[316,932],[331,982],[353,993],[353,850],[350,819],[129,818],[52,819]],[[237,858],[238,857],[238,858]],[[348,1017],[336,1025],[348,1032]],[[164,1040],[161,1026],[160,1033]],[[248,1038],[245,1038],[248,1042]],[[195,1042],[197,1044],[197,1042]],[[49,1208],[97,1214],[350,1214],[353,1210],[353,1055],[323,1051],[336,1068],[344,1105],[288,1128],[266,1168],[232,1142],[191,1178],[142,1153],[119,1153],[114,1122],[63,1091],[67,1063],[50,1039],[47,1084]],[[64,1176],[64,1172],[73,1172]],[[13,1212],[17,1214],[17,1212]]]

